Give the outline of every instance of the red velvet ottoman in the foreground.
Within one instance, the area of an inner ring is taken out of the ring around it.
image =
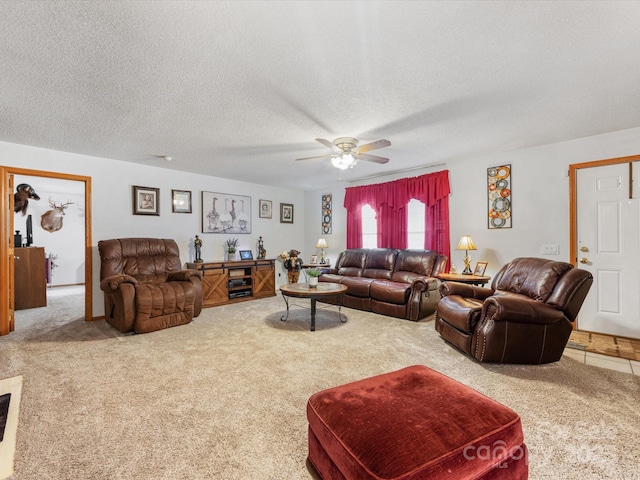
[[[318,392],[307,418],[324,480],[528,478],[518,414],[421,365]]]

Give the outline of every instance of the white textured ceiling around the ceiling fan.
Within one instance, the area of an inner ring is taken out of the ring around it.
[[[640,2],[3,1],[0,140],[275,186],[640,126]],[[170,155],[166,162],[154,155]],[[87,161],[92,161],[88,159]]]

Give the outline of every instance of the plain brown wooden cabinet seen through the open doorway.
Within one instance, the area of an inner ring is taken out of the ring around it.
[[[43,247],[14,250],[15,310],[47,306],[47,270]]]

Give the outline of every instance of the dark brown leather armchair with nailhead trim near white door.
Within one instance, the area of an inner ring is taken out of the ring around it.
[[[435,328],[480,362],[556,362],[592,283],[569,263],[516,258],[491,288],[444,282]]]

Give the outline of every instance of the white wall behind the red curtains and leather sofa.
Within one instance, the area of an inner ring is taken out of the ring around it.
[[[513,258],[544,257],[559,261],[569,259],[569,178],[570,164],[640,153],[640,128],[623,130],[542,147],[455,160],[437,168],[394,174],[352,185],[382,183],[402,176],[419,176],[437,170],[449,170],[452,194],[449,203],[451,260],[462,269],[464,251],[455,248],[461,235],[472,236],[478,250],[470,252],[472,265],[489,262],[487,275]],[[487,228],[487,168],[511,164],[513,227],[505,230]],[[357,168],[357,167],[356,167]],[[318,231],[320,199],[327,189],[308,191],[306,197],[307,231]],[[346,248],[344,223],[344,187],[332,189],[334,197],[333,235],[327,238],[329,256]],[[317,239],[307,236],[306,248],[315,247]],[[543,255],[542,245],[559,245],[558,255]]]

